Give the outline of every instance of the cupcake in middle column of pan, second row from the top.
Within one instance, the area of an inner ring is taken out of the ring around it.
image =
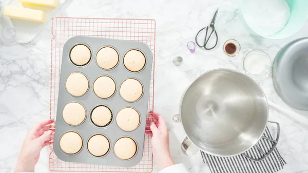
[[[115,83],[108,76],[100,76],[94,81],[93,91],[99,98],[110,98],[115,92]]]

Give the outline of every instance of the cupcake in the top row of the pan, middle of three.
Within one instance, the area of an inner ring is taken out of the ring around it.
[[[97,53],[96,61],[103,69],[111,69],[119,62],[119,54],[111,47],[104,47]]]

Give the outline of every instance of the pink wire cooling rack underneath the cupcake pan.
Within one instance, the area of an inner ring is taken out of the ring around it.
[[[114,19],[114,18],[71,18],[54,17],[52,19],[51,39],[51,80],[50,80],[50,120],[55,120],[57,99],[60,83],[62,51],[65,42],[73,36],[95,36],[109,39],[140,41],[149,46],[153,52],[151,86],[149,92],[148,110],[154,107],[154,69],[155,69],[155,20],[147,19]],[[148,126],[149,123],[147,123]],[[50,129],[54,129],[51,125]],[[53,135],[50,140],[53,140]],[[134,167],[111,167],[82,163],[63,162],[58,159],[50,147],[50,171],[97,171],[97,172],[152,172],[153,158],[151,137],[144,139],[143,158]]]

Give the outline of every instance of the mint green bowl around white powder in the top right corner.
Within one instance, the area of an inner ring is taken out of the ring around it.
[[[243,2],[245,0],[242,0]],[[257,33],[252,28],[248,27],[257,35],[260,35],[262,37],[265,37],[267,39],[285,39],[286,37],[289,37],[293,34],[295,34],[297,31],[300,30],[304,26],[304,24],[307,21],[308,17],[308,0],[286,0],[288,6],[290,7],[290,18],[285,25],[285,27],[277,32],[274,35],[271,36],[265,36]],[[241,3],[241,9],[243,8],[243,3]],[[243,11],[243,10],[241,10]],[[244,14],[242,13],[243,20],[245,21]]]

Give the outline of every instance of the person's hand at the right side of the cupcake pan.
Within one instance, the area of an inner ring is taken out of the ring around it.
[[[157,158],[156,162],[159,170],[161,170],[174,165],[175,162],[170,156],[169,132],[164,118],[152,111],[150,111],[150,114],[153,115],[153,118],[147,118],[151,123],[147,127],[146,133],[152,135],[153,156]]]

